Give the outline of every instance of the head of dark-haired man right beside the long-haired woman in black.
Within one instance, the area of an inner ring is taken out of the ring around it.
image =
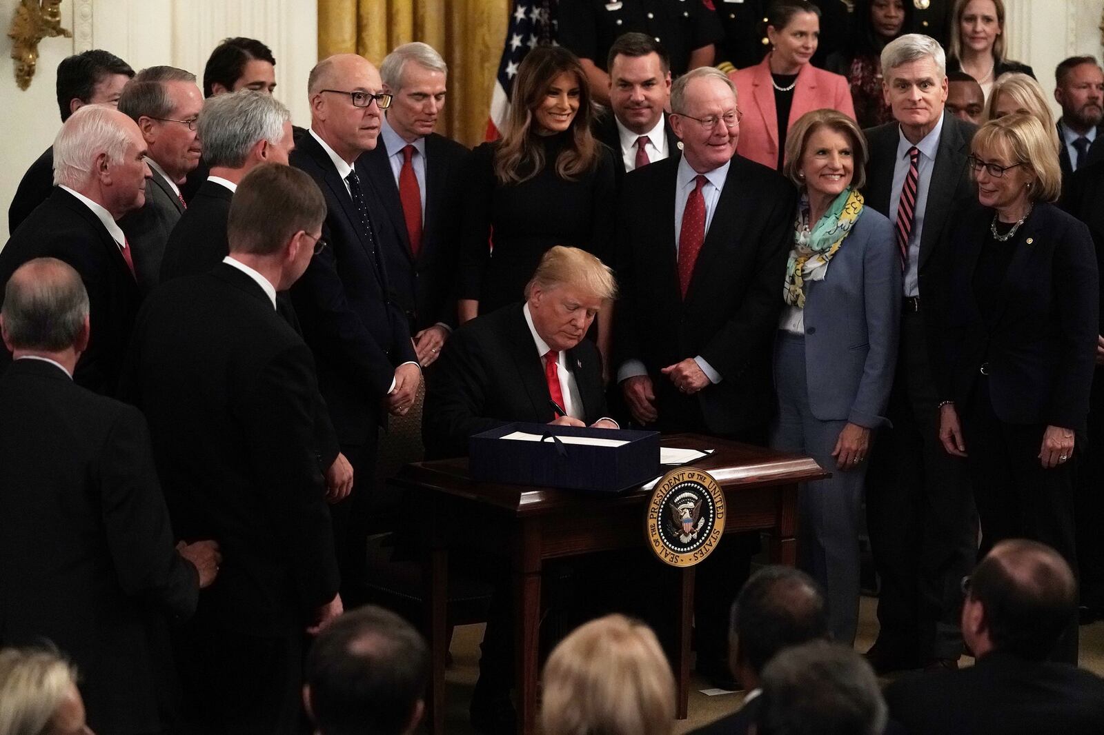
[[[646,33],[625,33],[609,47],[609,106],[626,128],[650,132],[671,99],[671,60]]]

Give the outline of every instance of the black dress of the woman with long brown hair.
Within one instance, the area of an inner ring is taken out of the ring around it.
[[[478,299],[479,313],[520,301],[541,256],[553,245],[581,247],[609,262],[616,209],[613,153],[599,143],[594,169],[574,181],[561,179],[555,159],[570,135],[541,138],[544,168],[520,184],[502,184],[495,175],[497,142],[473,152],[464,177],[458,298]]]

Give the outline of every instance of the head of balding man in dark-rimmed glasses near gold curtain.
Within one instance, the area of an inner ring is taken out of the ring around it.
[[[373,150],[391,104],[380,72],[363,56],[337,54],[310,70],[310,128],[347,163]]]

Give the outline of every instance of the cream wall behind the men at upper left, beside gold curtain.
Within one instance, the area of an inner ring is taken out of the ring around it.
[[[54,139],[61,119],[55,70],[65,56],[106,49],[140,70],[156,64],[202,77],[211,50],[227,36],[261,39],[276,56],[276,97],[308,125],[307,74],[317,61],[314,0],[63,0],[62,26],[72,39],[43,39],[25,92],[15,85],[11,39],[19,0],[0,0],[0,243],[8,241],[8,206],[26,167]]]

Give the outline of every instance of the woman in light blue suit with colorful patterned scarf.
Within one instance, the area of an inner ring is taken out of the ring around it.
[[[863,206],[867,142],[846,115],[803,115],[785,173],[802,190],[775,347],[778,413],[772,446],[806,454],[832,476],[799,491],[798,564],[828,597],[836,640],[859,618],[859,528],[871,437],[888,424],[901,315],[894,228]]]

